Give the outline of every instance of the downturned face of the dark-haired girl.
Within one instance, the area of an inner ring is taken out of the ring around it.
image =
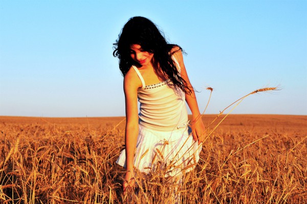
[[[143,51],[142,47],[139,44],[131,44],[130,56],[133,60],[138,62],[140,65],[146,66],[151,63],[153,53]]]

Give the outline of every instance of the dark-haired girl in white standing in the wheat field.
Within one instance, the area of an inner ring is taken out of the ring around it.
[[[117,163],[127,170],[125,193],[134,185],[134,171],[153,171],[158,160],[171,167],[166,176],[193,169],[199,160],[205,127],[182,49],[167,43],[153,22],[139,16],[130,18],[114,46],[113,55],[119,58],[124,76],[125,150]],[[191,122],[185,102],[192,112]]]

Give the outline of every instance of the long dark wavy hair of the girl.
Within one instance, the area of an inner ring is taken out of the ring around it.
[[[182,48],[176,44],[169,44],[163,32],[159,31],[153,22],[145,17],[132,17],[125,24],[114,43],[113,56],[119,59],[119,69],[123,76],[136,62],[130,57],[131,44],[139,44],[143,51],[153,53],[155,64],[159,64],[163,75],[170,79],[174,85],[179,86],[185,93],[191,93],[187,82],[180,76],[170,53],[172,48]],[[176,51],[175,51],[176,52]]]

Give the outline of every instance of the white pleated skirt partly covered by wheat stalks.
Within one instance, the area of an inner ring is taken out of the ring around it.
[[[202,144],[198,145],[193,140],[190,127],[157,131],[140,126],[134,167],[146,174],[162,169],[165,176],[180,175],[195,167],[201,150]],[[126,167],[125,150],[120,153],[116,163]]]

